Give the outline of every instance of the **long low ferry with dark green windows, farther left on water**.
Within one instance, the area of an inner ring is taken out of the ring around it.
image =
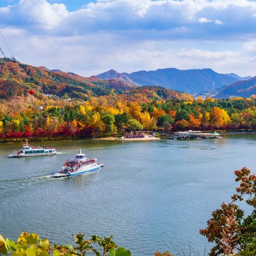
[[[13,154],[8,155],[8,157],[33,157],[49,154],[57,154],[57,151],[52,147],[42,148],[40,146],[29,145],[28,140],[25,140],[25,143],[22,144],[22,149],[20,149],[18,152],[13,151]]]

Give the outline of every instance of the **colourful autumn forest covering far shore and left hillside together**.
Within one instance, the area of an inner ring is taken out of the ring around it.
[[[29,93],[33,90],[33,93]],[[0,138],[255,130],[256,96],[213,99],[0,59]]]

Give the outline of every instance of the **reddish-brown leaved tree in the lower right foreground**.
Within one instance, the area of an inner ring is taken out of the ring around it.
[[[235,171],[236,188],[229,204],[221,204],[221,209],[212,212],[212,218],[207,221],[207,228],[200,230],[209,242],[215,242],[209,255],[256,255],[256,175],[243,167]],[[244,211],[236,201],[244,200],[252,212],[244,217]]]

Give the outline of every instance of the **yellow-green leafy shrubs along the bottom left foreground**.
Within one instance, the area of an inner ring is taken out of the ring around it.
[[[17,243],[8,238],[4,239],[0,235],[0,254],[12,256],[85,256],[87,251],[91,251],[96,256],[131,256],[129,250],[125,250],[123,247],[117,248],[112,240],[113,236],[100,238],[94,235],[88,240],[84,240],[84,234],[81,233],[73,236],[75,246],[54,244],[52,247],[47,239],[39,241],[38,234],[23,232],[18,237]],[[100,249],[93,247],[95,244],[98,244]]]

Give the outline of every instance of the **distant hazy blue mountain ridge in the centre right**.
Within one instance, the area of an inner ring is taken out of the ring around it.
[[[180,90],[186,93],[199,93],[205,90],[212,90],[213,86],[222,87],[232,84],[239,79],[225,74],[219,74],[207,69],[178,70],[176,68],[165,68],[153,71],[138,71],[129,73],[118,73],[115,70],[109,70],[97,75],[101,79],[119,79],[128,81],[130,79],[135,84],[142,86],[155,85]],[[213,85],[214,82],[214,85]]]

